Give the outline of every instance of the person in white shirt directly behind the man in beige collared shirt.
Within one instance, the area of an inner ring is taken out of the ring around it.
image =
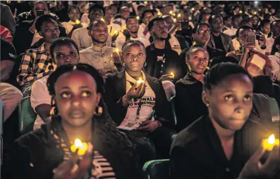
[[[94,4],[90,7],[89,18],[90,18],[91,22],[103,19],[104,15],[105,15],[105,9],[102,5]],[[74,40],[74,42],[77,44],[79,50],[86,49],[93,44],[92,38],[90,38],[90,36],[87,35],[88,30],[89,30],[88,28],[79,28],[79,29],[74,30],[72,33],[71,39]],[[112,37],[110,34],[109,34],[109,37],[108,37],[106,43],[109,46],[111,46]]]

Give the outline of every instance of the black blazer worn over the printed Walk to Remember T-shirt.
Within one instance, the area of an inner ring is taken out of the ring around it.
[[[161,81],[145,73],[146,81],[156,94],[156,120],[162,126],[173,127],[170,103],[167,101]],[[127,107],[123,106],[122,98],[126,94],[126,78],[124,70],[109,74],[105,83],[104,99],[108,106],[109,114],[117,125],[120,125],[125,118]]]

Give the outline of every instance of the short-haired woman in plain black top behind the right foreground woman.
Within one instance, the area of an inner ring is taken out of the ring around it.
[[[176,130],[178,132],[194,120],[208,114],[207,107],[201,98],[204,72],[208,62],[209,54],[202,47],[192,47],[186,53],[188,73],[175,84]]]

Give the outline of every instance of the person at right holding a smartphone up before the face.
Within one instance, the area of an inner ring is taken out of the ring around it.
[[[265,45],[265,40],[263,36],[256,36],[256,38],[253,38],[251,36],[248,36],[251,34],[253,30],[249,26],[242,26],[238,28],[236,31],[236,37],[239,43],[241,44],[242,50],[232,51],[227,53],[226,56],[233,57],[237,61],[239,61],[239,64],[243,67],[246,67],[249,71],[249,74],[252,77],[259,76],[259,75],[267,75],[272,79],[272,64],[271,60],[269,60],[268,56],[263,55],[260,52],[257,52],[253,48],[255,47],[255,39],[259,38],[260,46],[262,47]],[[258,68],[248,68],[249,65],[249,58],[252,57],[254,54],[256,54],[258,57],[264,60],[264,65],[260,66],[262,71],[259,71]]]

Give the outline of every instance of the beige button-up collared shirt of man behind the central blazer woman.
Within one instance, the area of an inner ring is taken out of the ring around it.
[[[115,48],[107,45],[100,48],[92,44],[91,47],[80,51],[81,62],[90,64],[96,69],[115,71],[117,68],[114,65],[114,50]]]

